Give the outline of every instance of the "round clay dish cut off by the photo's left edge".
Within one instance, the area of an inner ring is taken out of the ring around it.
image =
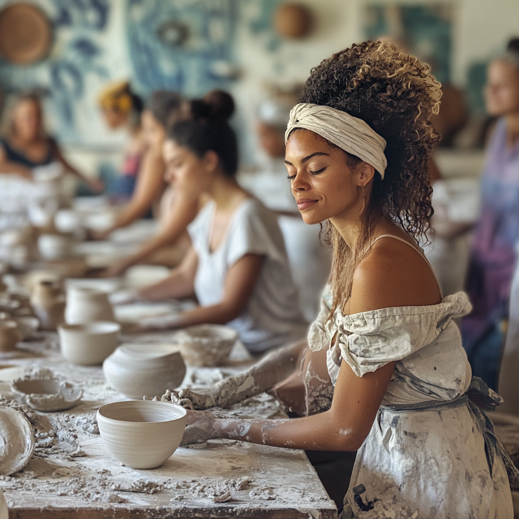
[[[29,420],[15,409],[0,406],[0,474],[8,476],[22,470],[33,450]]]

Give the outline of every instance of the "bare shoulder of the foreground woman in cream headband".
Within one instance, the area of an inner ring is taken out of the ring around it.
[[[424,257],[399,240],[378,240],[353,275],[350,313],[440,302],[438,283]]]

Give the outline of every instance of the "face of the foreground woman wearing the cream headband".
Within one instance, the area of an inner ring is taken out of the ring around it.
[[[312,131],[293,131],[286,143],[285,165],[305,223],[358,217],[359,175],[346,163],[342,149]]]

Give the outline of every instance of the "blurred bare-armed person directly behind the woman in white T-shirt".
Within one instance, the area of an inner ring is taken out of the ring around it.
[[[210,96],[209,92],[206,97]],[[143,158],[142,171],[134,195],[117,217],[110,229],[98,233],[107,237],[113,230],[129,225],[143,216],[152,203],[161,195],[159,221],[160,232],[146,242],[138,252],[106,269],[103,276],[120,276],[132,265],[146,262],[168,267],[177,266],[189,248],[186,227],[193,221],[203,205],[203,197],[189,197],[175,189],[171,183],[166,189],[166,165],[163,160],[163,145],[167,129],[181,117],[182,98],[175,92],[157,91],[142,114],[142,127],[148,149]]]

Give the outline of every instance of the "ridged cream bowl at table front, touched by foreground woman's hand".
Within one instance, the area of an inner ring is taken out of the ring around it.
[[[168,402],[134,400],[103,405],[99,432],[110,452],[128,467],[160,467],[182,441],[186,410]]]

